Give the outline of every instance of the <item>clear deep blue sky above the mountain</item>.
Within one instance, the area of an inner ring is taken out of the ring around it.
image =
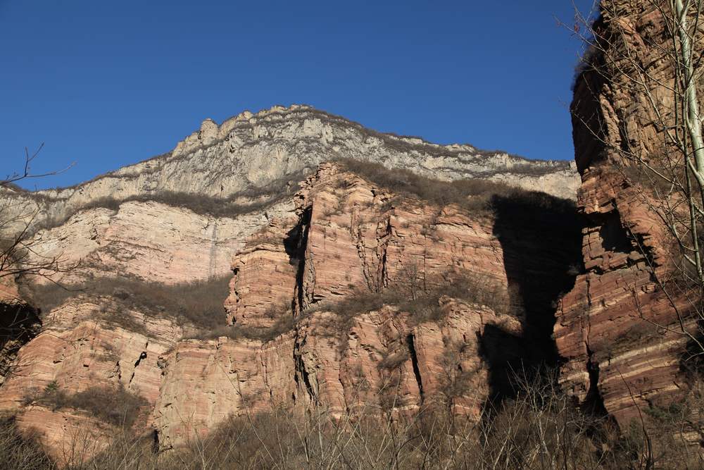
[[[577,0],[582,11],[591,0]],[[0,173],[70,185],[201,120],[303,103],[367,127],[572,159],[570,0],[0,0]]]

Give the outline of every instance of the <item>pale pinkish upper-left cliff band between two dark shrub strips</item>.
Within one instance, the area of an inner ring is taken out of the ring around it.
[[[279,202],[239,216],[215,217],[157,202],[97,207],[40,231],[30,260],[41,264],[56,257],[62,264],[78,264],[52,276],[62,283],[115,273],[166,284],[202,280],[227,273],[244,239],[270,217],[291,209],[290,202]]]

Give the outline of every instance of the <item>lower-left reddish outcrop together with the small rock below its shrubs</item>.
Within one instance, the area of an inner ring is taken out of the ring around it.
[[[172,319],[145,316],[120,299],[70,299],[44,317],[41,332],[17,354],[2,385],[0,410],[17,414],[23,431],[39,431],[58,462],[97,452],[115,435],[112,423],[71,404],[37,398],[47,390],[70,397],[103,387],[143,397],[151,410],[161,389],[159,358],[181,336],[182,327]],[[151,432],[151,421],[139,420],[133,432]]]

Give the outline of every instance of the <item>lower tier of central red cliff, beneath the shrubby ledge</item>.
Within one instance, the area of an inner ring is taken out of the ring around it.
[[[478,419],[489,397],[485,328],[520,338],[517,319],[455,299],[444,316],[413,326],[409,315],[382,307],[346,324],[315,311],[270,342],[186,340],[165,357],[155,425],[163,448],[204,435],[227,416],[274,407],[320,405],[341,414],[411,413],[451,407]],[[519,350],[514,350],[516,356]]]

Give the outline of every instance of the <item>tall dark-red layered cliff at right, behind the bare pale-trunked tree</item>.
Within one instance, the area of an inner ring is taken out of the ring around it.
[[[677,309],[688,310],[686,298],[668,298],[655,281],[667,278],[670,240],[648,188],[622,170],[628,165],[622,149],[655,159],[665,142],[646,97],[625,78],[629,64],[611,62],[614,49],[628,48],[662,80],[651,92],[667,98],[664,87],[674,73],[659,56],[667,49],[664,24],[645,3],[612,2],[617,16],[603,9],[596,25],[604,37],[616,39],[608,54],[592,60],[603,63],[606,73],[586,70],[574,87],[575,159],[582,174],[578,205],[589,220],[582,247],[586,273],[562,299],[555,325],[558,351],[566,359],[560,381],[622,426],[639,409],[667,403],[686,388],[681,366],[687,337],[677,323]],[[684,326],[694,327],[686,319]]]

